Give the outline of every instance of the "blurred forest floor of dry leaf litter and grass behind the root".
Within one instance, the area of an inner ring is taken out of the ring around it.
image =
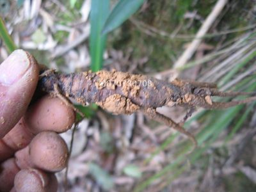
[[[77,0],[74,8],[70,1],[34,2],[18,10],[14,2],[1,7],[15,43],[50,68],[88,70],[90,1]],[[216,3],[145,1],[109,34],[104,69],[165,81],[179,76],[217,83],[222,91],[255,92],[255,0],[228,1],[193,57],[175,68]],[[8,56],[3,45],[0,56]],[[218,111],[199,108],[185,124],[198,140],[198,149],[189,155],[186,137],[141,112],[111,115],[94,105],[77,106],[88,118],[74,134],[68,184],[65,170],[57,174],[60,191],[256,191],[255,104]],[[180,107],[157,111],[176,122],[187,112]],[[72,131],[61,136],[70,145]]]

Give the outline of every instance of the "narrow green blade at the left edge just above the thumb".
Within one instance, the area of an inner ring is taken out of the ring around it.
[[[11,53],[15,49],[17,49],[17,47],[14,44],[12,37],[9,35],[9,33],[4,25],[4,21],[1,17],[0,17],[0,36],[3,39],[3,42],[6,45],[6,48],[9,53]]]

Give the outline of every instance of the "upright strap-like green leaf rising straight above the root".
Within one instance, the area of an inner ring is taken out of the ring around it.
[[[103,66],[103,53],[106,46],[106,35],[101,31],[109,13],[109,0],[93,0],[90,13],[90,55],[93,72]]]

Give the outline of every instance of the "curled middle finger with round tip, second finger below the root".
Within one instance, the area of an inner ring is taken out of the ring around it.
[[[40,168],[47,172],[59,172],[67,166],[68,148],[56,132],[40,132],[29,146],[15,153],[19,168]]]

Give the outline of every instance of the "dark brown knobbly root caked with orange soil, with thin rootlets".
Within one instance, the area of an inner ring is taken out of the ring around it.
[[[244,100],[230,102],[213,102],[211,96],[253,96],[255,93],[225,93],[219,92],[216,85],[212,83],[182,81],[180,79],[166,82],[153,77],[117,72],[116,70],[72,74],[60,74],[54,72],[54,70],[47,70],[40,75],[38,88],[44,92],[54,94],[56,94],[56,88],[58,88],[58,94],[68,99],[75,99],[83,105],[96,103],[114,114],[131,114],[142,110],[150,118],[168,124],[177,131],[186,134],[195,145],[196,140],[192,134],[173,120],[157,113],[154,109],[175,105],[222,109],[256,100],[256,97],[249,97]]]

